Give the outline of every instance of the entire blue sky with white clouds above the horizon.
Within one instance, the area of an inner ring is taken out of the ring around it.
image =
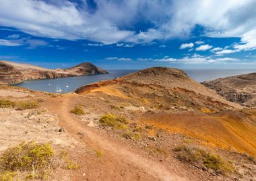
[[[256,1],[0,0],[0,60],[256,68]]]

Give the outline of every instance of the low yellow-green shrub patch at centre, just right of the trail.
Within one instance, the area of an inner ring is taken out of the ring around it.
[[[113,127],[114,129],[128,129],[127,126],[127,119],[125,117],[118,117],[116,115],[110,115],[106,114],[103,115],[100,120],[100,125],[106,126],[106,127]]]

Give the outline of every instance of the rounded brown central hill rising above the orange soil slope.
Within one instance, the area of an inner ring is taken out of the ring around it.
[[[82,86],[76,93],[88,91],[135,99],[163,110],[213,112],[239,107],[177,68],[147,68],[114,80]]]

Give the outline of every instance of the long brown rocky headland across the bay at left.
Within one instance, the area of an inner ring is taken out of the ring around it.
[[[24,80],[63,78],[88,74],[107,74],[106,70],[98,68],[90,62],[65,69],[51,70],[30,64],[18,64],[0,60],[0,84],[13,84]]]

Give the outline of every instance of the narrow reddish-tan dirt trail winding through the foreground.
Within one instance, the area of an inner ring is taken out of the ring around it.
[[[75,99],[75,97],[73,97],[73,99]],[[77,120],[74,115],[69,113],[72,105],[70,97],[55,98],[47,102],[49,103],[46,107],[59,116],[60,125],[64,127],[68,133],[79,139],[77,133],[84,132],[85,137],[80,140],[84,141],[86,145],[92,148],[100,148],[103,150],[104,157],[108,157],[108,161],[115,164],[115,167],[119,168],[119,164],[135,166],[139,169],[137,171],[141,171],[148,176],[153,176],[157,180],[187,180],[186,178],[178,176],[174,171],[167,170],[162,164],[148,160],[132,152],[127,145],[120,143],[120,141],[114,142],[107,135],[100,135],[100,133],[97,133],[94,129]],[[126,180],[125,178],[123,179]]]

